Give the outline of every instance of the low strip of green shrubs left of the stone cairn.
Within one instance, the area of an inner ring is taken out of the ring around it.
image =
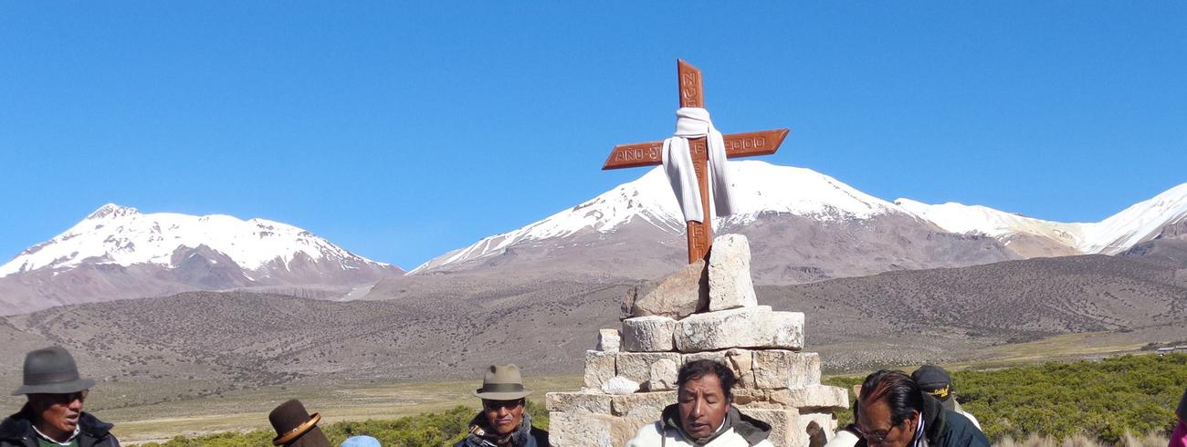
[[[527,413],[532,415],[532,424],[547,429],[548,411],[542,404],[528,401]],[[470,420],[477,410],[458,406],[444,413],[432,413],[418,416],[400,417],[393,421],[337,422],[319,424],[337,446],[347,438],[368,435],[379,439],[383,446],[440,447],[452,446],[464,438]],[[177,436],[165,443],[148,442],[145,447],[240,447],[272,446],[277,436],[273,430],[253,430],[247,433],[228,432],[197,438]]]

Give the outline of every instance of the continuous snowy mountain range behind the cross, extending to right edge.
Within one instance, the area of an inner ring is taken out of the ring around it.
[[[772,282],[1117,254],[1157,237],[1168,225],[1187,225],[1187,184],[1099,223],[1061,223],[979,205],[890,203],[806,168],[756,160],[729,166],[736,213],[717,218],[716,232],[747,234],[751,249],[770,251],[766,261],[755,262],[756,274],[766,269]],[[430,260],[408,275],[514,266],[521,272],[647,277],[664,272],[664,256],[678,264],[684,230],[667,178],[656,167],[542,221]]]

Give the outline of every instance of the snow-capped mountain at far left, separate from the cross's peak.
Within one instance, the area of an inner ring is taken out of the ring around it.
[[[328,296],[401,273],[279,222],[107,204],[0,266],[0,311],[242,287]]]

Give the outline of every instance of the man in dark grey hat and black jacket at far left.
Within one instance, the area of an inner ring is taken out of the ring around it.
[[[119,447],[110,423],[83,413],[95,381],[78,377],[70,352],[58,346],[28,352],[24,372],[13,396],[26,395],[28,402],[0,422],[0,447]]]

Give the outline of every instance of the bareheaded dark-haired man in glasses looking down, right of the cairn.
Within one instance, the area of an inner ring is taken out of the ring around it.
[[[989,447],[967,417],[941,407],[902,371],[865,377],[855,413],[858,447]]]

